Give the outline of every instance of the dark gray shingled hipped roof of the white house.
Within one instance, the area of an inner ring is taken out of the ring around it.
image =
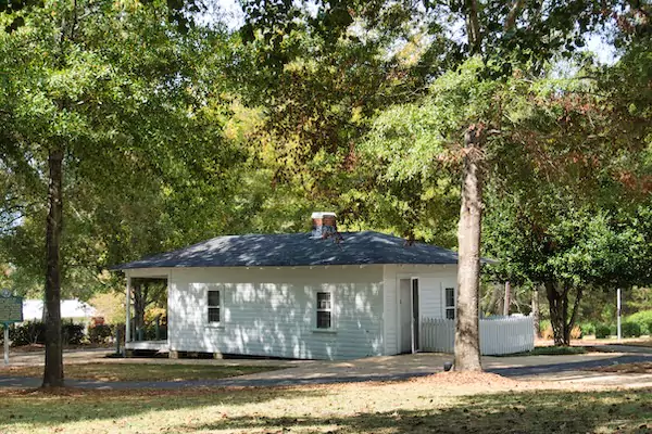
[[[292,267],[364,264],[457,264],[457,254],[379,232],[343,232],[341,241],[310,233],[217,237],[186,248],[114,267]]]

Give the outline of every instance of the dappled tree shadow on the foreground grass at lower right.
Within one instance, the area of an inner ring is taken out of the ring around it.
[[[176,426],[178,432],[592,433],[652,432],[652,390],[528,392],[462,397],[451,407],[352,417],[243,417]]]

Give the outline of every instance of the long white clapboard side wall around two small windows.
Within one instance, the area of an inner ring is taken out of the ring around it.
[[[208,291],[221,291],[218,324]],[[333,292],[331,330],[316,329],[316,293]],[[170,347],[177,352],[352,359],[385,353],[383,266],[181,268],[168,295]]]

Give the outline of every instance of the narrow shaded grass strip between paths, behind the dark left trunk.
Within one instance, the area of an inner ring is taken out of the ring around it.
[[[227,376],[283,369],[262,366],[210,366],[180,363],[70,363],[65,378],[97,381],[183,381],[217,380]],[[14,376],[41,376],[42,367],[11,367],[0,369],[0,374]]]

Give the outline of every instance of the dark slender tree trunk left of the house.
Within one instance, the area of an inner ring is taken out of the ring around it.
[[[46,368],[42,387],[63,386],[63,348],[61,340],[61,261],[60,241],[63,224],[63,151],[51,150],[48,156],[49,189],[46,220]]]

